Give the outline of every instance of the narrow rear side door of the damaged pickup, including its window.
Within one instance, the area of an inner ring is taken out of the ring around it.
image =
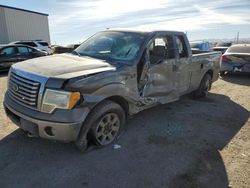
[[[177,49],[176,68],[177,68],[177,81],[178,91],[180,95],[185,94],[190,86],[191,70],[190,63],[192,57],[189,56],[187,41],[182,35],[175,35],[175,46]]]

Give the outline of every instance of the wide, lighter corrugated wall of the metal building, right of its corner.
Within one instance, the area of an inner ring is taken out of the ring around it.
[[[3,9],[5,13],[8,42],[42,39],[50,43],[47,16],[10,8]]]

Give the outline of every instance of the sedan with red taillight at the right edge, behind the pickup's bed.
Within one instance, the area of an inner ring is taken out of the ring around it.
[[[221,57],[221,75],[226,72],[250,73],[250,44],[230,46]]]

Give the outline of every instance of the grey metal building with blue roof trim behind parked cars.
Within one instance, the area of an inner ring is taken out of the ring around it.
[[[38,39],[50,43],[48,14],[0,5],[0,44]]]

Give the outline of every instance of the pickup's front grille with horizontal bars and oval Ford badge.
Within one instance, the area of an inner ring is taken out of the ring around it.
[[[8,93],[16,102],[29,107],[37,107],[39,88],[39,82],[29,80],[14,72],[10,73]]]

